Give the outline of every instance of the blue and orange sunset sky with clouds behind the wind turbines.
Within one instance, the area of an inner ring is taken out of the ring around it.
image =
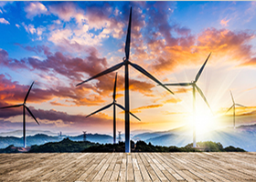
[[[198,130],[256,123],[256,2],[0,2],[0,106],[22,104],[29,86],[27,129],[63,134],[112,134],[112,72],[81,81],[123,61],[130,7],[130,60],[164,84],[197,81]],[[123,67],[117,103],[124,106]],[[168,86],[175,95],[130,67],[131,130],[191,126],[192,88]],[[22,107],[0,111],[0,132],[22,129]],[[117,108],[117,131],[124,114]]]

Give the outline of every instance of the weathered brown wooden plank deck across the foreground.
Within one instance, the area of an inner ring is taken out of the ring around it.
[[[0,181],[256,181],[256,153],[1,154]]]

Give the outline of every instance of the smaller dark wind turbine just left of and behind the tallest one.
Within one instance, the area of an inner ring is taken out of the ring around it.
[[[104,107],[100,108],[99,110],[97,110],[97,111],[95,111],[95,112],[93,112],[93,113],[91,113],[89,115],[89,116],[94,115],[94,114],[96,114],[96,113],[98,113],[98,112],[100,112],[100,111],[102,111],[104,109],[107,109],[107,108],[113,106],[113,144],[115,144],[115,138],[116,138],[116,136],[115,136],[116,135],[115,106],[118,106],[119,108],[121,108],[121,109],[123,109],[125,111],[125,108],[122,105],[117,104],[116,100],[115,100],[115,95],[116,95],[115,94],[116,93],[116,79],[117,79],[117,73],[115,75],[115,81],[114,81],[114,86],[113,86],[112,104],[110,104],[108,106],[104,106]],[[141,120],[137,116],[134,116],[133,113],[131,113],[131,112],[130,112],[130,115],[132,115],[133,117],[135,117],[139,121]],[[86,116],[86,117],[89,117],[89,116]]]

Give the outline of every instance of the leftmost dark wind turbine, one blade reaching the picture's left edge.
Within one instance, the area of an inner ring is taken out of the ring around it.
[[[25,117],[25,108],[27,109],[28,113],[35,119],[35,121],[37,122],[36,117],[32,114],[32,112],[29,110],[29,108],[26,106],[26,101],[27,101],[27,97],[30,93],[30,90],[32,88],[32,86],[34,85],[34,82],[32,83],[32,85],[29,87],[28,91],[27,91],[27,95],[25,96],[24,102],[23,104],[20,105],[14,105],[14,106],[4,106],[4,107],[0,107],[0,109],[3,108],[12,108],[12,107],[19,107],[19,106],[23,106],[23,142],[24,142],[24,147],[27,147],[26,145],[26,117]],[[37,122],[37,124],[39,125],[39,123]]]

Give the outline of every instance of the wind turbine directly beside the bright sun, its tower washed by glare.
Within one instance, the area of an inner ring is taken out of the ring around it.
[[[211,53],[208,55],[211,55]],[[197,80],[199,79],[199,77],[201,76],[204,67],[206,66],[207,62],[208,62],[208,58],[205,61],[204,65],[200,68],[200,70],[197,73],[197,76],[195,78],[194,81],[191,81],[190,83],[176,83],[176,84],[165,84],[165,86],[192,86],[193,87],[193,114],[194,114],[194,125],[193,125],[193,147],[197,147],[197,138],[196,138],[196,121],[195,121],[195,116],[196,116],[196,88],[197,88],[197,92],[200,94],[200,96],[202,96],[202,98],[205,100],[205,102],[208,105],[208,101],[207,98],[204,96],[202,90],[197,86]],[[211,110],[210,106],[208,105],[209,109]]]

